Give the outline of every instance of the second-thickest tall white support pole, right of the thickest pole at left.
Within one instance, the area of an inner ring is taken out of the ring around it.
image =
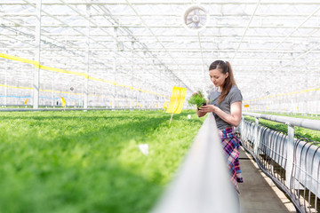
[[[86,5],[86,17],[90,18],[90,4]],[[89,83],[89,63],[90,63],[90,22],[87,20],[85,38],[85,73],[84,77],[84,108],[88,108],[88,83]]]

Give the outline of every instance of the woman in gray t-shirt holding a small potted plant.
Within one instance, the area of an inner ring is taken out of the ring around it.
[[[239,193],[238,182],[243,182],[239,165],[239,140],[235,136],[234,127],[241,121],[242,95],[236,87],[231,65],[228,61],[216,60],[209,67],[210,79],[215,85],[208,96],[206,106],[196,109],[199,117],[212,113],[220,132],[224,153],[227,155],[231,182]]]

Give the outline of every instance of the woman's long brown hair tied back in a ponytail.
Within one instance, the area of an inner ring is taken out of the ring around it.
[[[228,61],[216,60],[212,62],[212,64],[210,65],[209,71],[212,69],[219,69],[222,74],[228,73],[228,77],[226,78],[225,82],[222,85],[221,95],[218,100],[218,103],[220,104],[221,101],[226,98],[232,86],[236,85],[236,81],[232,72],[231,65]]]

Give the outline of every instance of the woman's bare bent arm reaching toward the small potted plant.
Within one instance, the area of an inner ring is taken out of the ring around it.
[[[202,106],[199,113],[211,113],[217,114],[223,121],[228,122],[232,126],[238,126],[241,122],[241,101],[236,101],[230,106],[230,114],[223,112],[218,106],[207,105]],[[197,112],[196,112],[197,113]],[[199,115],[199,114],[198,114]]]

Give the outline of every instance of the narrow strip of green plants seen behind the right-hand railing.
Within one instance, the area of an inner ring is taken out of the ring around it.
[[[244,116],[246,120],[254,122],[254,118],[250,116]],[[259,119],[259,123],[267,126],[273,130],[280,130],[288,133],[288,126],[284,123],[280,122],[272,122],[265,119]],[[309,140],[318,141],[320,142],[320,131],[317,130],[308,130],[301,127],[294,127],[294,135],[298,138],[308,138]]]

